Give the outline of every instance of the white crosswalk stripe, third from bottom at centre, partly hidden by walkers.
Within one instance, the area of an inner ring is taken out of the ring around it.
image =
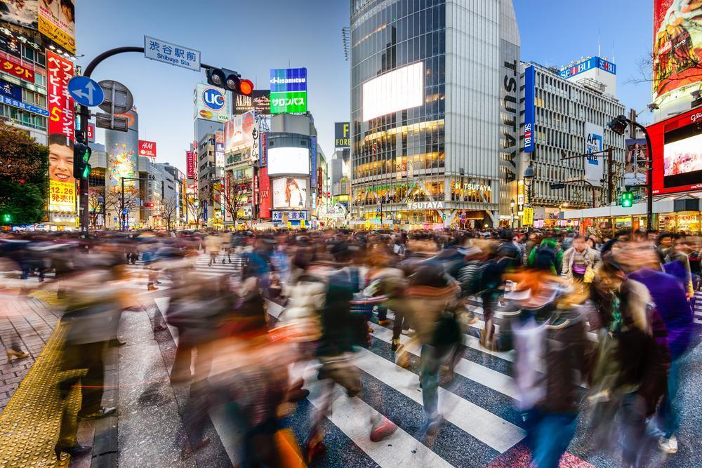
[[[386,343],[392,342],[392,330],[384,328],[382,326],[376,325],[376,323],[369,323],[369,326],[373,328],[373,336]],[[413,342],[409,347],[407,343],[410,342],[410,338],[404,335],[400,336],[400,342],[405,345],[405,349],[413,354],[414,356],[420,356],[421,346],[418,342]],[[515,389],[515,382],[512,377],[505,375],[497,370],[492,370],[485,366],[481,366],[478,363],[470,361],[468,359],[461,359],[456,364],[454,369],[458,375],[463,375],[463,377],[477,382],[480,385],[484,385],[490,389],[496,390],[503,395],[507,395],[512,399],[517,399],[517,390]]]

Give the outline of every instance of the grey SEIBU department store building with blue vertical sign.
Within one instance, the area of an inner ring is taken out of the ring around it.
[[[599,58],[588,58],[585,63]],[[610,62],[607,62],[610,63]],[[614,65],[612,65],[614,66]],[[589,67],[589,65],[588,65]],[[576,72],[572,72],[572,70]],[[589,69],[589,68],[588,68]],[[519,174],[531,164],[534,180],[519,180],[515,209],[503,217],[503,224],[519,224],[524,206],[534,208],[537,227],[557,224],[564,208],[592,206],[607,203],[610,168],[607,157],[578,157],[585,153],[613,148],[613,194],[623,177],[625,156],[624,138],[609,128],[616,116],[625,113],[625,107],[614,95],[614,74],[603,72],[607,83],[597,76],[578,74],[578,64],[557,70],[534,62],[522,64],[524,109],[522,128],[522,163]],[[566,73],[564,73],[564,70]],[[602,72],[602,70],[600,70]],[[582,79],[581,79],[582,78]],[[564,184],[552,188],[553,184]]]

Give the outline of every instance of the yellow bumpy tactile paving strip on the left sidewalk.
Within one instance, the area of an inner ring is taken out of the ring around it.
[[[45,297],[41,299],[46,300]],[[60,372],[60,358],[66,331],[65,325],[57,324],[0,415],[1,468],[67,467],[69,464],[69,455],[63,454],[59,463],[53,453],[58,440],[61,405],[67,404],[72,413],[77,413],[80,406],[78,387],[72,389],[65,402],[58,392],[59,377],[65,375]]]

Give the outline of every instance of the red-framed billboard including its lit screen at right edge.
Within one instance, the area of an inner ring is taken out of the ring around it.
[[[702,107],[647,128],[654,194],[702,189]]]

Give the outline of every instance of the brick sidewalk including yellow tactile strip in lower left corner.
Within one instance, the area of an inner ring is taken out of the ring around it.
[[[29,358],[0,366],[3,389],[0,392],[0,468],[60,466],[87,468],[114,466],[117,456],[117,417],[82,421],[78,443],[93,446],[90,455],[71,460],[62,455],[57,462],[53,447],[58,439],[62,405],[69,413],[80,407],[80,388],[74,387],[67,399],[60,399],[58,380],[63,375],[60,359],[65,326],[58,320],[60,312],[56,293],[37,291],[32,295],[0,297],[0,331],[4,345],[10,345],[16,333]],[[81,372],[81,371],[79,371]],[[83,371],[84,372],[84,371]],[[107,353],[105,384],[109,387],[103,404],[117,403],[117,352]],[[21,385],[20,385],[21,383]]]

